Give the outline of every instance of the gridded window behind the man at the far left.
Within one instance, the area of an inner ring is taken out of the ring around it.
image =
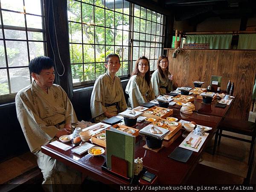
[[[3,100],[32,83],[29,61],[45,55],[42,5],[41,0],[33,3],[0,0],[0,97]]]

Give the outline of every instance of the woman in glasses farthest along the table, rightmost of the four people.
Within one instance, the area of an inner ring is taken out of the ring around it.
[[[157,70],[152,74],[151,82],[156,96],[166,95],[173,90],[173,76],[168,70],[168,63],[168,58],[161,55],[157,61]]]

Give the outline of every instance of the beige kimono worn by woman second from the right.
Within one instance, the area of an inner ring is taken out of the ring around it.
[[[145,102],[155,99],[151,82],[148,86],[145,77],[142,78],[140,75],[131,76],[126,85],[125,93],[129,95],[128,106],[131,108],[136,108]]]

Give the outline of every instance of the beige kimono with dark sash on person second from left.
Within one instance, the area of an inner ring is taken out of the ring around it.
[[[95,122],[101,122],[107,118],[103,114],[105,111],[117,114],[127,109],[119,77],[115,76],[114,79],[111,79],[107,71],[96,79],[91,96],[90,109]]]

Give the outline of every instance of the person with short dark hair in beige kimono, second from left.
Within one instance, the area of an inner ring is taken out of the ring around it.
[[[127,109],[120,78],[116,72],[120,68],[120,59],[116,54],[106,57],[107,72],[96,79],[91,96],[91,113],[95,122],[117,115]]]

